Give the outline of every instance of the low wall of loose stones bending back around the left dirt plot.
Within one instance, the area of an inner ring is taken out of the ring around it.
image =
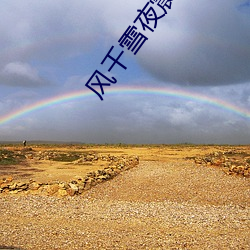
[[[17,153],[20,155],[20,152]],[[75,154],[75,161],[72,164],[84,164],[86,162],[95,162],[98,160],[107,161],[108,166],[102,170],[96,170],[87,173],[86,176],[75,177],[69,182],[54,181],[50,183],[40,183],[34,180],[27,182],[17,182],[14,181],[12,177],[4,178],[0,180],[0,193],[2,194],[44,194],[44,195],[56,195],[56,196],[74,196],[84,193],[84,191],[90,189],[91,187],[108,181],[119,173],[136,167],[139,164],[138,156],[111,156],[111,155],[98,155],[96,153],[85,153],[85,154]],[[25,157],[28,159],[36,160],[53,160],[58,159],[58,157],[69,157],[72,158],[71,154],[62,152],[31,152],[31,150],[26,150]]]

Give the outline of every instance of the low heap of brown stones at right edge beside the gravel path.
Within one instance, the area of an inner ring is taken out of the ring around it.
[[[218,166],[228,175],[250,177],[250,155],[245,152],[214,152],[207,156],[195,157],[198,165]]]

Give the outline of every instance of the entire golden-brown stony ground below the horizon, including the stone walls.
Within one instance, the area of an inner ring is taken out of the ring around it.
[[[0,154],[0,249],[250,249],[250,146]]]

